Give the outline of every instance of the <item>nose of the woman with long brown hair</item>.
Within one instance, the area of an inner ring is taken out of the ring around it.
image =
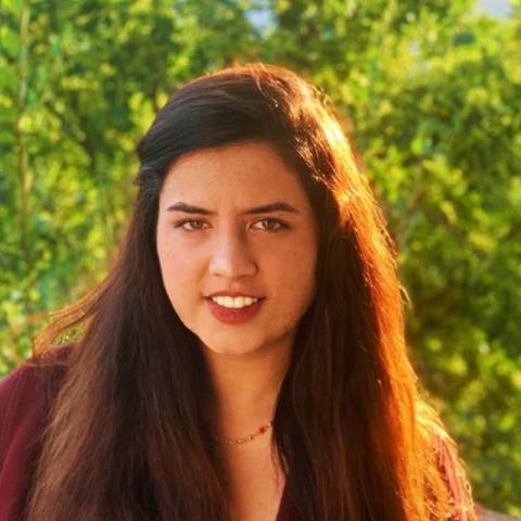
[[[213,276],[232,280],[252,277],[257,272],[257,264],[240,233],[223,231],[215,238],[209,272]]]

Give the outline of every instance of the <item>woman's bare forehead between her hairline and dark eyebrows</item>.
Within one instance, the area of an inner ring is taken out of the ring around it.
[[[297,174],[265,142],[238,143],[182,155],[168,170],[162,198],[229,202],[271,199],[305,203]],[[195,202],[195,201],[189,201]]]

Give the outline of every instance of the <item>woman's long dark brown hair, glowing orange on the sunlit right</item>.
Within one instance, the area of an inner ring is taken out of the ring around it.
[[[243,140],[267,141],[291,164],[319,224],[316,296],[274,425],[288,496],[306,521],[446,519],[433,449],[445,434],[408,360],[379,205],[320,93],[263,64],[173,94],[138,145],[139,190],[110,275],[40,335],[36,355],[82,331],[52,403],[29,519],[229,520],[207,435],[207,370],[165,293],[155,227],[179,156]]]

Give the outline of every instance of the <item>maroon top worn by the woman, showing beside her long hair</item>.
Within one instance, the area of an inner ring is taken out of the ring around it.
[[[38,454],[38,443],[48,416],[48,404],[58,389],[64,364],[60,361],[69,347],[52,353],[52,366],[24,364],[0,381],[0,521],[22,521],[23,509],[30,486],[30,478]],[[56,365],[54,360],[59,360]],[[51,371],[46,371],[51,368]],[[467,521],[465,505],[469,493],[460,475],[455,452],[440,441],[440,466],[444,470],[454,497],[454,520]],[[457,513],[456,513],[457,512]],[[276,521],[298,521],[296,509],[289,500],[287,488],[282,494]]]

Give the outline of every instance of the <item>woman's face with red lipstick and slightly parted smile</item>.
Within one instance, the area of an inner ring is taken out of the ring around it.
[[[168,171],[161,272],[179,318],[211,351],[291,347],[314,296],[317,247],[297,175],[269,144],[196,151]]]

